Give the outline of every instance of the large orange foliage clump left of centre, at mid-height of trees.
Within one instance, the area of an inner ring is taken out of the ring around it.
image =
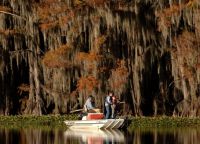
[[[70,49],[69,45],[62,45],[56,50],[48,51],[43,58],[44,65],[50,68],[70,68],[72,64],[67,59]]]

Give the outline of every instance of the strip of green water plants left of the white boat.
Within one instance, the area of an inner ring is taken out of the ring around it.
[[[78,119],[77,115],[0,116],[0,128],[63,128],[64,120]]]

